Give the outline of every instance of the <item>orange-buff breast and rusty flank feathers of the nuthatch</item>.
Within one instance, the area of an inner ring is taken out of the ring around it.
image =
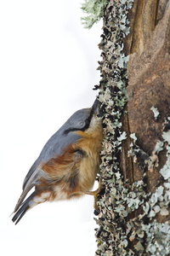
[[[92,189],[99,169],[102,130],[88,134],[77,131],[81,139],[65,148],[65,153],[58,155],[42,166],[48,179],[42,177],[37,185],[37,194],[50,192],[48,201],[65,200]]]

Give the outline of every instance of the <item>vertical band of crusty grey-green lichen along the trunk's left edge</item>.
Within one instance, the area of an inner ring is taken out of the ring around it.
[[[144,197],[143,181],[131,186],[123,180],[119,164],[122,141],[127,138],[122,131],[121,118],[127,102],[128,56],[123,53],[122,40],[129,32],[127,14],[132,3],[131,0],[107,1],[104,32],[99,44],[103,57],[99,63],[102,79],[96,89],[99,89],[105,126],[100,169],[108,193],[99,199],[96,255],[127,255],[127,252],[133,255],[133,251],[127,249],[126,218],[131,208],[137,209],[143,203]]]

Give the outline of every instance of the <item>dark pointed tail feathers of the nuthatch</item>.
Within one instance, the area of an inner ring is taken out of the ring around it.
[[[32,201],[33,197],[36,195],[36,191],[34,191],[27,199],[26,201],[24,201],[19,210],[17,212],[15,212],[14,214],[14,217],[12,218],[12,221],[14,222],[14,224],[17,224],[19,223],[20,221],[20,218],[22,218],[25,213],[31,208],[31,207],[34,207],[35,205],[35,202]]]

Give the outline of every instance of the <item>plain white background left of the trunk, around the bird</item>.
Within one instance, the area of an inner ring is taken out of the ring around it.
[[[16,226],[9,215],[43,145],[99,84],[102,22],[81,25],[78,0],[0,2],[0,255],[94,255],[94,198],[44,203]]]

